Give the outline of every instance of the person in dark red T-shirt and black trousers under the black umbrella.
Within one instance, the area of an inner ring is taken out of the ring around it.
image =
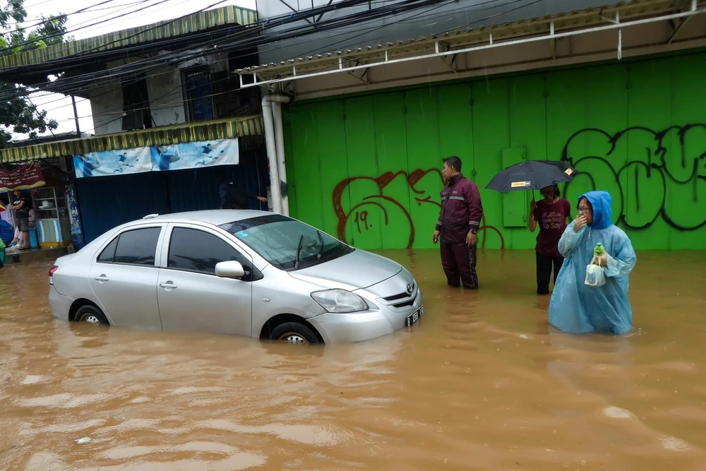
[[[559,186],[545,186],[542,200],[530,202],[530,232],[539,225],[537,244],[534,246],[537,258],[537,294],[549,294],[549,278],[554,266],[554,285],[564,261],[559,254],[558,243],[566,229],[567,220],[571,220],[571,203],[559,198]]]

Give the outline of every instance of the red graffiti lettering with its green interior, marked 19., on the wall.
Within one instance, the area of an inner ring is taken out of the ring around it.
[[[411,249],[418,237],[428,237],[441,208],[440,189],[444,180],[439,169],[417,169],[414,172],[386,172],[380,177],[350,177],[340,181],[333,190],[333,208],[338,220],[337,237],[347,244],[361,239],[383,238],[384,246]],[[414,217],[413,217],[414,214]],[[423,222],[415,228],[414,220]],[[421,235],[419,234],[421,232]],[[486,233],[498,235],[501,248],[505,241],[496,227],[479,228],[481,249]],[[349,240],[347,234],[352,234]],[[364,244],[363,244],[364,245]],[[379,244],[371,244],[376,246]]]

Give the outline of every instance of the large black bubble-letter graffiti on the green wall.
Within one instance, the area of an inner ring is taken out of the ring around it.
[[[614,219],[628,229],[647,229],[659,217],[683,231],[706,225],[706,124],[614,134],[582,129],[570,136],[561,160],[581,172],[566,196],[576,198],[586,187],[608,190]]]

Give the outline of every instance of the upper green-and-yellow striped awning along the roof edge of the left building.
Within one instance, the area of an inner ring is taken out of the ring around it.
[[[258,20],[258,13],[247,8],[224,6],[213,10],[200,11],[183,18],[160,21],[152,25],[139,26],[129,30],[109,32],[105,35],[52,44],[42,49],[32,49],[19,54],[0,56],[0,69],[42,64],[68,56],[119,49],[121,47],[144,44],[170,37],[189,35],[223,25],[251,25]]]

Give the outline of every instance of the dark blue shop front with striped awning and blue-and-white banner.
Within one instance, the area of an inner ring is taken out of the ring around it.
[[[224,179],[267,196],[261,121],[229,119],[42,143],[0,150],[0,158],[59,162],[44,166],[56,167],[56,177],[45,172],[44,184],[28,187],[37,244],[81,249],[108,229],[148,214],[218,208]],[[40,168],[36,161],[24,166]],[[268,210],[255,198],[250,207]]]

